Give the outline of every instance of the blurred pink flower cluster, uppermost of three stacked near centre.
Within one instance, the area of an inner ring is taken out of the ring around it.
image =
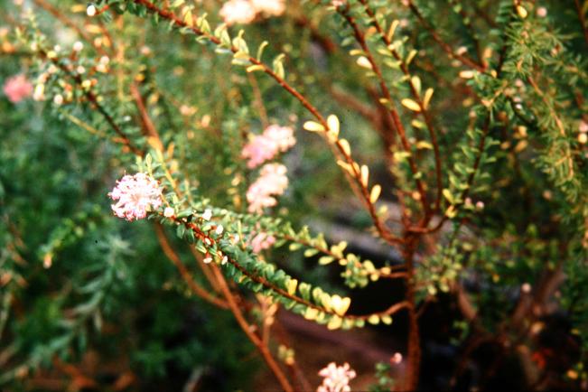
[[[247,167],[253,169],[273,159],[278,153],[285,153],[296,144],[294,130],[289,126],[268,126],[261,135],[255,135],[243,147],[241,156],[248,159]]]

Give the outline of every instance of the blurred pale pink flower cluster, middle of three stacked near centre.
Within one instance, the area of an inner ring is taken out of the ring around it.
[[[277,204],[274,196],[283,194],[288,187],[286,172],[285,165],[280,163],[267,163],[261,168],[259,178],[247,189],[249,212],[261,213]]]

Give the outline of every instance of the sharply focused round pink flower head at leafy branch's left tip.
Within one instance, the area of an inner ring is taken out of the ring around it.
[[[162,190],[153,178],[145,173],[126,175],[117,181],[117,186],[108,193],[116,204],[112,210],[118,218],[144,219],[147,211],[158,209],[162,205]]]

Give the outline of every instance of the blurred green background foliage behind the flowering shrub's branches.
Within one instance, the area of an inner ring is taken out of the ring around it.
[[[5,29],[0,37],[5,44],[0,53],[2,82],[19,73],[34,79],[43,67],[30,48],[17,43],[14,27],[25,23],[14,3],[0,0],[0,28]],[[46,43],[70,53],[73,42],[82,38],[79,31],[56,20],[42,6],[44,1],[24,3],[33,9]],[[218,3],[195,5],[217,23]],[[268,40],[268,59],[285,53],[288,82],[312,97],[322,113],[340,118],[354,159],[368,164],[372,176],[388,185],[382,203],[393,207],[395,181],[402,177],[395,180],[388,170],[392,152],[380,132],[386,118],[378,106],[377,84],[348,53],[353,48],[349,26],[333,15],[329,2],[322,3],[288,2],[284,16],[247,25],[247,42],[257,47]],[[473,57],[483,58],[483,48],[491,48],[486,60],[504,65],[499,79],[470,80],[458,77],[461,66],[444,55],[431,33],[400,3],[369,2],[379,14],[401,21],[398,31],[409,42],[406,51],[417,50],[415,74],[423,86],[435,88],[431,113],[441,129],[439,146],[448,172],[467,161],[462,146],[476,139],[468,139],[466,130],[480,128],[483,107],[474,105],[473,97],[492,98],[502,91],[490,110],[489,135],[495,143],[487,154],[494,163],[484,166],[476,184],[481,188],[471,194],[474,203],[483,202],[483,211],[460,215],[443,229],[446,236],[423,246],[417,276],[423,283],[420,300],[426,303],[421,319],[423,372],[430,380],[424,386],[585,388],[588,273],[583,230],[588,221],[588,171],[585,142],[576,138],[578,119],[586,121],[588,70],[582,56],[588,42],[574,2],[523,2],[531,13],[531,22],[523,22],[516,19],[512,1],[415,1],[443,41],[466,48]],[[586,14],[586,4],[580,5],[580,14]],[[242,196],[253,177],[239,154],[247,135],[259,134],[267,123],[293,126],[301,131],[296,133],[297,145],[284,157],[290,187],[275,216],[286,217],[294,228],[310,224],[313,230],[324,229],[333,242],[347,239],[351,251],[379,263],[397,257],[352,240],[369,229],[369,214],[346,186],[328,146],[303,133],[303,120],[308,119],[303,107],[274,80],[231,65],[229,56],[202,48],[191,35],[169,32],[163,22],[110,13],[94,22],[85,15],[85,3],[50,5],[82,29],[98,26],[84,32],[110,42],[112,46],[103,42],[102,47],[116,53],[110,59],[113,71],[97,75],[103,106],[127,135],[146,145],[130,93],[131,86],[137,86],[163,145],[173,145],[180,171],[188,173],[191,187],[202,197],[219,207],[245,211]],[[537,16],[536,10],[544,6],[547,16]],[[477,17],[464,23],[462,9]],[[368,28],[369,21],[359,21]],[[533,39],[520,43],[529,29]],[[507,54],[498,58],[502,47]],[[555,49],[565,56],[549,57]],[[99,57],[86,43],[76,61],[89,69]],[[558,182],[565,173],[549,171],[557,167],[559,156],[551,149],[557,141],[550,133],[554,126],[545,98],[527,82],[524,88],[518,86],[517,80],[537,68],[570,129],[567,143],[576,154],[571,184]],[[408,90],[399,70],[385,72],[395,94],[405,96]],[[499,86],[503,82],[517,92],[504,93]],[[89,105],[51,105],[54,89],[46,91],[46,102],[27,99],[14,104],[0,97],[0,387],[179,390],[190,380],[198,380],[201,390],[252,385],[261,362],[233,317],[190,294],[163,255],[151,222],[128,224],[112,216],[107,191],[134,167],[135,157],[113,143],[116,135]],[[511,102],[517,96],[525,98],[522,114]],[[404,115],[411,137],[422,137],[422,130],[409,125],[413,114]],[[431,154],[419,156],[425,175],[433,173]],[[236,173],[244,181],[235,184]],[[450,186],[449,180],[444,182]],[[340,238],[341,230],[343,237],[351,233],[351,238]],[[191,257],[182,241],[173,241],[173,247],[182,259]],[[303,251],[280,247],[272,250],[272,259],[308,282],[350,294],[356,310],[381,308],[379,304],[390,303],[390,297],[399,298],[402,292],[402,285],[382,282],[370,285],[369,291],[346,288],[339,277],[342,268],[317,266]],[[552,275],[558,277],[545,295],[533,292],[537,295],[531,300],[529,293]],[[206,285],[202,276],[194,276]],[[455,290],[455,282],[462,291]],[[464,293],[473,303],[473,320],[460,313]],[[536,300],[541,300],[540,315],[528,324],[522,315],[518,320],[518,306],[539,306]],[[406,320],[397,320],[369,331],[386,347],[403,350]],[[525,325],[513,327],[518,323]],[[312,352],[299,355],[303,360],[313,357]],[[386,366],[378,367],[376,381],[387,387]]]

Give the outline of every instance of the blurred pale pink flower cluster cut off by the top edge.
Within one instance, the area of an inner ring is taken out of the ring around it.
[[[257,14],[279,16],[284,14],[285,0],[229,0],[220,8],[220,17],[227,24],[251,23]]]

